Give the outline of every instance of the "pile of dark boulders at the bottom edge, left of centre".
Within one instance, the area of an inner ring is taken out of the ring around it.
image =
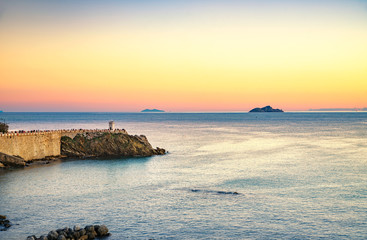
[[[109,235],[110,233],[105,225],[89,225],[85,228],[74,226],[74,228],[57,229],[40,237],[28,236],[26,240],[87,240]]]

